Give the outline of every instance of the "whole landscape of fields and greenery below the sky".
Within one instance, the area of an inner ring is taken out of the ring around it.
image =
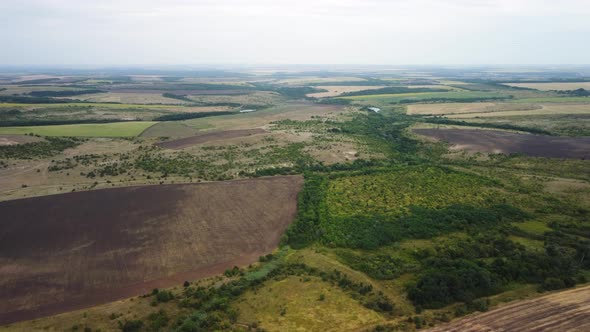
[[[0,331],[583,326],[580,73],[361,67],[0,74]]]

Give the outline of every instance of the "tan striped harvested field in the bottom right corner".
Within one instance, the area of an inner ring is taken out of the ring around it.
[[[590,286],[516,302],[429,331],[590,331]]]

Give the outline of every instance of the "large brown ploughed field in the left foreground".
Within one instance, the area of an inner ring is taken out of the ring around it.
[[[0,203],[0,324],[141,295],[271,252],[298,176]]]

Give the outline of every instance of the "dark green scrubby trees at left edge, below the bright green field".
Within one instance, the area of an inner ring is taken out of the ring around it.
[[[0,159],[33,159],[56,155],[82,142],[77,138],[45,137],[45,141],[0,146]]]

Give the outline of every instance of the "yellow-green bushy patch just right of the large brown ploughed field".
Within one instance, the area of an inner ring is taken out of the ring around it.
[[[412,207],[489,205],[498,197],[489,179],[440,167],[401,167],[330,181],[331,216],[400,215]]]

